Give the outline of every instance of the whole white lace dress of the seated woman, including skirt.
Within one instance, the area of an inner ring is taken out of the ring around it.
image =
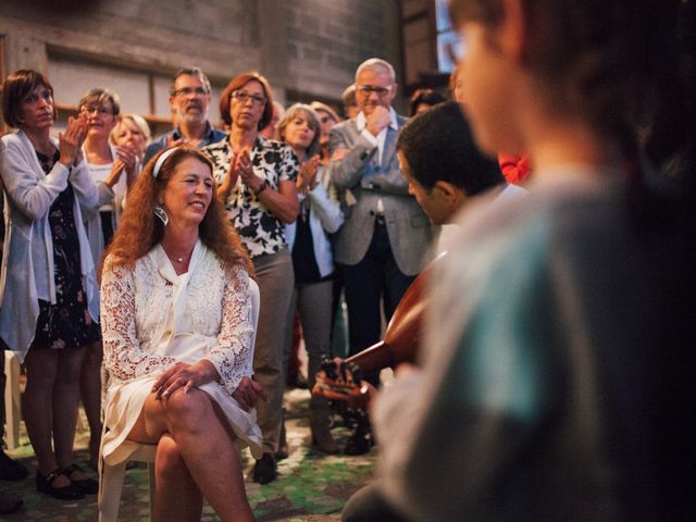
[[[256,410],[244,411],[232,393],[251,376],[253,326],[249,276],[241,266],[225,269],[200,241],[189,271],[176,275],[161,246],[133,269],[108,258],[101,282],[104,363],[111,375],[107,394],[103,457],[109,464],[126,460],[122,445],[133,428],[159,374],[172,364],[210,360],[220,383],[206,391],[227,417],[237,447],[261,458]]]

